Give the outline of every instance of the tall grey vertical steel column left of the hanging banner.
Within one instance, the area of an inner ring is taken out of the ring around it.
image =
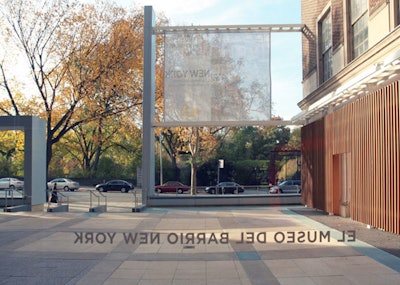
[[[142,203],[147,204],[154,192],[154,109],[155,109],[155,63],[156,41],[153,28],[155,15],[152,6],[144,7],[143,50],[143,141],[142,141]]]

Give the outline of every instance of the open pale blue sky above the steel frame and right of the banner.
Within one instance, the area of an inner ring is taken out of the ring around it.
[[[117,0],[121,6],[152,6],[173,26],[300,24],[300,0]],[[301,33],[271,35],[272,115],[290,120],[302,99]]]

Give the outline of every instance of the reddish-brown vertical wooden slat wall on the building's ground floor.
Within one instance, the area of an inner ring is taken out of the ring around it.
[[[334,212],[333,157],[350,153],[351,218],[400,234],[399,129],[399,82],[304,126],[303,203]]]

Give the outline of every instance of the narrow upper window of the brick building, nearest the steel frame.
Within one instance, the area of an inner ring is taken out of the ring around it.
[[[332,76],[332,17],[327,13],[321,20],[321,55],[323,81]]]

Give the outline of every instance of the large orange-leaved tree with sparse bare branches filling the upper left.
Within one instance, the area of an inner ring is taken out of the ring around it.
[[[4,0],[2,4],[7,48],[18,48],[24,55],[33,80],[26,95],[41,106],[37,115],[46,120],[47,165],[52,146],[69,131],[141,103],[141,13],[128,14],[106,2],[94,6],[72,0]],[[20,115],[5,64],[0,71],[9,102],[0,110]]]

